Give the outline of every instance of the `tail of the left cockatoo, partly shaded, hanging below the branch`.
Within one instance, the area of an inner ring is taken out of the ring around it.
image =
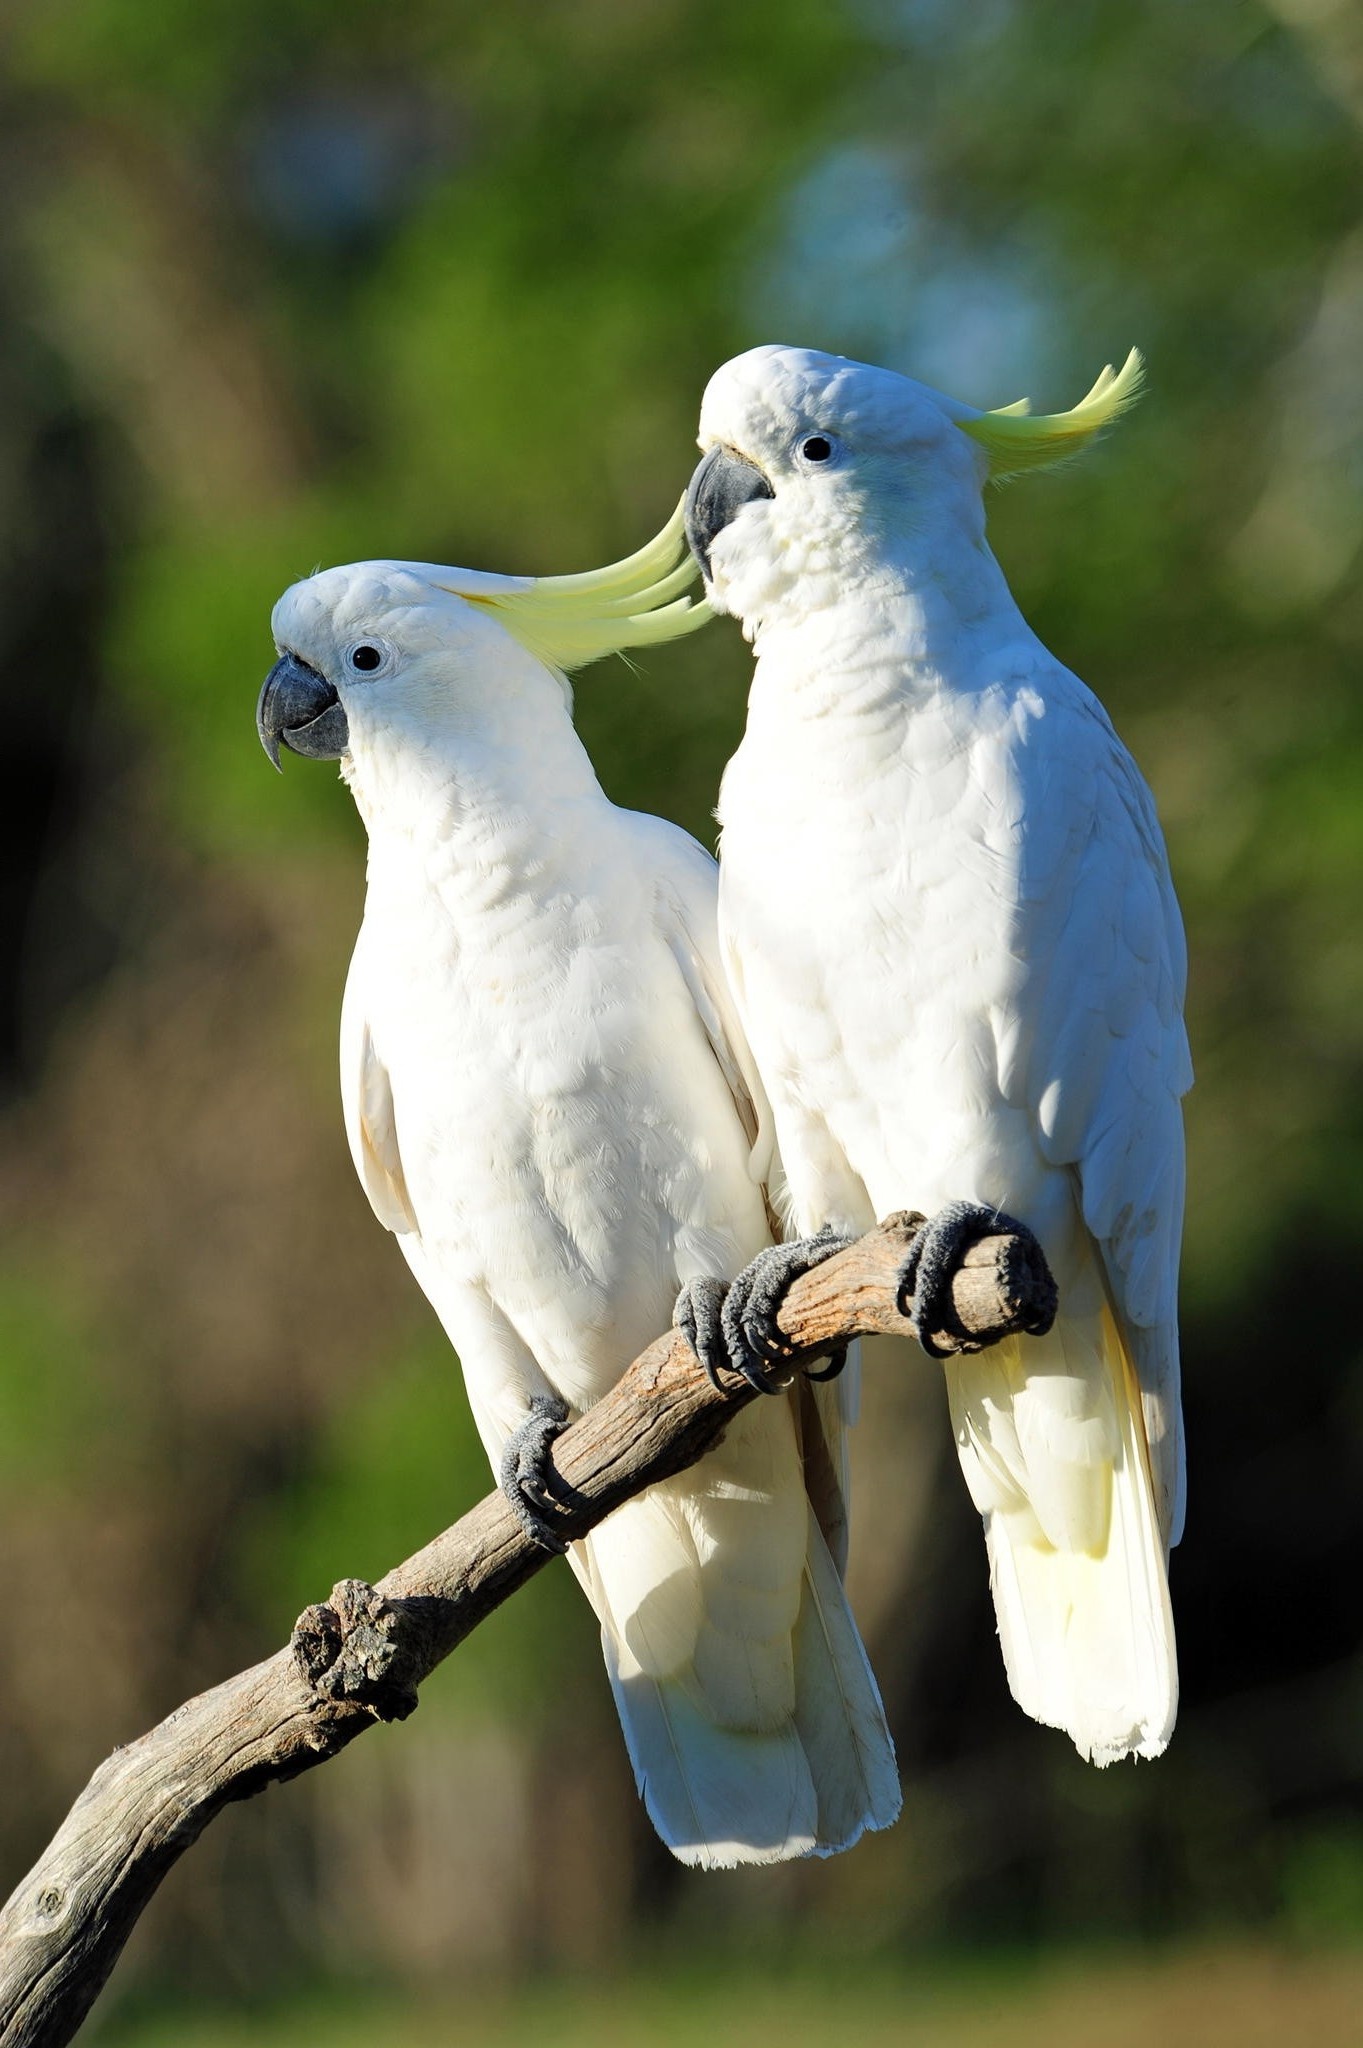
[[[641,1796],[682,1862],[831,1853],[894,1821],[894,1747],[788,1401],[745,1409],[571,1561]]]

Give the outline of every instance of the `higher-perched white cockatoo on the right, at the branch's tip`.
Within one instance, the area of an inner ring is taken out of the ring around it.
[[[948,1235],[982,1210],[1038,1235],[1054,1327],[946,1378],[1009,1683],[1095,1763],[1158,1755],[1177,1708],[1185,946],[1150,793],[1017,610],[982,487],[1081,449],[1138,381],[1132,352],[1034,418],[753,348],[706,389],[688,494],[757,653],[720,942],[790,1221],[966,1196]],[[939,1276],[943,1241],[921,1249]],[[950,1331],[939,1296],[917,1327]]]

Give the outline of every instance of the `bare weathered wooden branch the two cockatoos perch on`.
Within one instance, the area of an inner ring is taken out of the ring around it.
[[[810,1364],[858,1335],[911,1335],[898,1272],[917,1217],[890,1217],[800,1278],[780,1325]],[[993,1343],[1048,1327],[1054,1282],[1027,1237],[984,1237],[952,1286],[962,1329]],[[559,1438],[565,1538],[694,1464],[753,1391],[708,1382],[677,1333],[659,1337]],[[548,1561],[491,1493],[377,1587],[344,1579],[293,1642],[176,1708],[100,1763],[0,1913],[0,2044],[61,2048],[98,1997],[170,1866],[223,1806],[297,1778],[372,1729],[401,1720],[422,1679]]]

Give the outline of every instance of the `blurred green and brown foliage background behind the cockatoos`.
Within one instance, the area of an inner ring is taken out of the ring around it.
[[[211,1829],[92,2034],[1363,2038],[1361,125],[1353,0],[10,0],[6,1886],[113,1743],[487,1487],[344,1149],[362,836],[256,743],[284,584],[626,553],[753,342],[1044,408],[1140,342],[1146,403],[993,537],[1154,784],[1199,1065],[1164,1761],[1017,1714],[941,1389],[872,1376],[892,1833],[673,1866],[551,1567]],[[722,625],[585,672],[610,795],[708,836],[745,670]]]

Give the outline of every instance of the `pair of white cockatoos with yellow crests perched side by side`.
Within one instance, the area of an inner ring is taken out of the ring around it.
[[[606,801],[565,680],[704,623],[682,518],[577,578],[313,575],[258,713],[276,762],[342,762],[368,829],[350,1147],[526,1528],[561,1548],[553,1438],[677,1290],[706,1364],[770,1384],[772,1262],[784,1284],[919,1208],[941,1272],[1009,1212],[1060,1313],[948,1358],[950,1409],[1013,1694],[1097,1763],[1158,1755],[1177,1704],[1183,940],[1148,791],[1013,604],[982,485],[1083,446],[1136,379],[1044,418],[798,348],[712,379],[686,537],[757,651],[718,877]],[[569,1552],[684,1862],[898,1812],[841,1585],[847,1405],[849,1376],[798,1378]]]

